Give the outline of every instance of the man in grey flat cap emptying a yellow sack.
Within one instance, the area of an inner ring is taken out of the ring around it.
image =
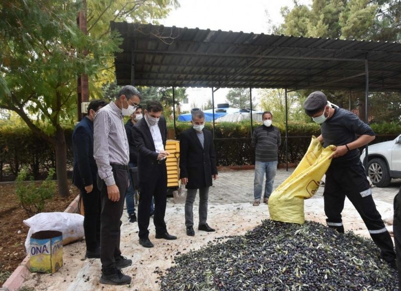
[[[323,193],[327,225],[340,233],[344,232],[341,212],[345,196],[348,197],[365,223],[372,240],[380,248],[381,258],[395,268],[392,240],[376,209],[369,182],[359,160],[358,148],[375,138],[373,130],[354,113],[331,104],[320,91],[308,96],[304,102],[304,110],[313,121],[320,124],[321,134],[317,139],[323,143],[323,147],[330,144],[336,146],[326,172]]]

